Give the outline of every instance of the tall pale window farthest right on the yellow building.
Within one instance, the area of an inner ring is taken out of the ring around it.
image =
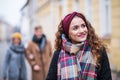
[[[110,38],[110,15],[110,0],[100,0],[100,34],[102,38]]]

